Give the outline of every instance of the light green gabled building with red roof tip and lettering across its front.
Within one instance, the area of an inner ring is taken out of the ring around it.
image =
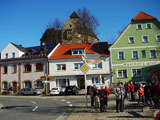
[[[160,80],[160,22],[139,12],[110,47],[113,82]]]

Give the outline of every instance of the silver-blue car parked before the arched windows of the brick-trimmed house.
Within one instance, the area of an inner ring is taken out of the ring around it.
[[[24,88],[20,90],[20,95],[40,95],[41,91],[32,89],[32,88]]]

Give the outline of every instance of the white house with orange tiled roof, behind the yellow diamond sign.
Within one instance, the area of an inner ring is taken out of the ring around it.
[[[81,66],[84,61],[82,55],[85,53],[99,53],[99,63],[87,63],[87,86],[97,87],[110,84],[110,61],[107,43],[95,44],[66,44],[60,45],[49,57],[50,88],[75,85],[84,89],[85,80]]]

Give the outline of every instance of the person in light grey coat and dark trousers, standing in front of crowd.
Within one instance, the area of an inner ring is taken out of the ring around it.
[[[117,112],[123,112],[123,99],[125,94],[125,89],[122,86],[121,81],[118,81],[116,88],[114,89],[116,96],[116,110]]]

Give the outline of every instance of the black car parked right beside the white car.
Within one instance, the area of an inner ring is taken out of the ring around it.
[[[77,95],[78,88],[76,86],[66,86],[65,95]]]

